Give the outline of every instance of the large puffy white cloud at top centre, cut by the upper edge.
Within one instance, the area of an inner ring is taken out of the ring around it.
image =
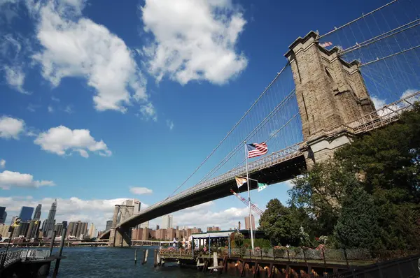
[[[146,0],[141,12],[154,41],[138,52],[158,82],[169,75],[181,84],[223,84],[246,68],[235,50],[246,21],[230,0]]]

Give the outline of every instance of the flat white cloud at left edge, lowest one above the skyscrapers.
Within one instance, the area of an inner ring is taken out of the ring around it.
[[[0,173],[0,188],[10,189],[11,187],[33,187],[54,186],[54,182],[48,180],[34,180],[34,177],[29,174],[21,174],[18,172],[3,171]]]

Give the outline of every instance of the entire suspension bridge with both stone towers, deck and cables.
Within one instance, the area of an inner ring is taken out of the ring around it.
[[[269,153],[248,170],[251,179],[276,184],[354,136],[398,121],[420,96],[420,19],[410,3],[391,1],[325,34],[298,37],[274,80],[186,181],[139,214],[117,205],[101,239],[127,246],[131,227],[245,191],[235,183],[246,173],[244,142],[267,143]]]

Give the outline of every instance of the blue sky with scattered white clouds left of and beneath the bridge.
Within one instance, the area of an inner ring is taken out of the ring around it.
[[[0,0],[0,205],[10,220],[42,203],[46,218],[57,198],[57,221],[103,228],[123,198],[162,200],[267,87],[297,36],[384,3]],[[255,191],[253,202],[284,203],[289,186]],[[244,215],[232,196],[174,224],[230,228]]]

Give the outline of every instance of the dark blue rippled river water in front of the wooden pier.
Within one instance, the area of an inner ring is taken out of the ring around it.
[[[134,251],[137,251],[137,265],[134,265]],[[153,249],[156,247],[64,247],[63,256],[59,264],[58,277],[216,277],[216,274],[203,273],[194,268],[180,268],[176,263],[153,267]],[[143,250],[149,249],[146,265],[141,265]],[[52,254],[57,254],[54,249]],[[51,265],[50,275],[54,270]],[[228,277],[223,275],[223,277]]]

